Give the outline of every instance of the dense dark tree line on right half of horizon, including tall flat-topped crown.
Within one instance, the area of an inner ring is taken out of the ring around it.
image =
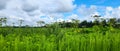
[[[58,24],[61,28],[91,28],[93,26],[120,28],[120,18],[101,18],[99,15],[94,15],[92,17],[94,21],[71,19],[72,22],[63,21],[58,22]]]

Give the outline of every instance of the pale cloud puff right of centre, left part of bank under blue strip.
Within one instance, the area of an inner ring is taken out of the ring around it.
[[[80,14],[80,20],[93,20],[91,16],[93,15],[100,15],[98,12],[98,6],[91,5],[91,6],[86,6],[86,5],[80,5],[78,7],[78,13]]]

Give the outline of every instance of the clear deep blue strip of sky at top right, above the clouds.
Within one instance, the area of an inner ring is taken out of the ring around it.
[[[74,2],[77,5],[97,5],[97,6],[112,6],[118,7],[120,5],[120,0],[75,0]]]

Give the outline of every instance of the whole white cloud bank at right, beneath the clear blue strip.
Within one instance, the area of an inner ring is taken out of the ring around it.
[[[82,20],[93,20],[92,15],[101,15],[101,18],[120,18],[120,6],[95,6],[90,7],[86,5],[81,5],[78,8],[78,12]]]

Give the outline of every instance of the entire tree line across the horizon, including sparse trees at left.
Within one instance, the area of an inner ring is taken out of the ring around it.
[[[92,16],[94,18],[94,21],[80,21],[77,19],[71,19],[71,22],[54,22],[53,24],[45,24],[44,21],[37,21],[37,27],[48,27],[48,26],[54,26],[55,24],[58,24],[61,28],[90,28],[93,26],[101,26],[101,27],[115,27],[115,28],[120,28],[120,18],[100,18],[101,16],[99,15],[94,15]],[[24,20],[20,19],[19,21],[19,26],[15,26],[15,23],[12,23],[12,27],[30,27],[29,25],[22,25]],[[4,24],[4,26],[2,26]],[[7,25],[7,18],[3,17],[0,18],[0,27],[10,27]]]

